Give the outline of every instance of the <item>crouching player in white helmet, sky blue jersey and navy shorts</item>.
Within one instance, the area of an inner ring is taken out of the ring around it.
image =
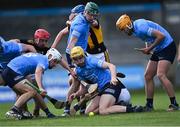
[[[35,79],[42,94],[46,94],[42,84],[42,75],[46,69],[51,69],[58,62],[62,62],[62,56],[56,49],[48,50],[46,55],[38,53],[27,53],[11,60],[5,70],[2,72],[2,80],[12,88],[20,97],[15,102],[10,111],[6,113],[7,117],[23,119],[21,107],[31,98],[38,102],[41,109],[48,118],[55,117],[46,106],[43,98],[33,88],[27,85],[25,77],[35,73]]]

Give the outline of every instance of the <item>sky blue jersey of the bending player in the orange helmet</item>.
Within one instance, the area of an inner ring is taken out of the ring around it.
[[[138,19],[133,22],[133,26],[134,26],[133,34],[136,37],[142,39],[144,42],[148,42],[148,43],[154,42],[155,37],[152,37],[153,30],[158,30],[164,34],[165,36],[164,40],[162,40],[162,42],[153,49],[154,51],[157,52],[161,51],[162,49],[166,48],[170,43],[173,42],[171,35],[159,24],[154,23],[152,21],[145,19]]]

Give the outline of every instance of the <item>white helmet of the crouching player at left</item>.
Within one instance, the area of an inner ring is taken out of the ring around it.
[[[47,53],[46,53],[46,56],[49,57],[49,55],[51,55],[51,57],[48,59],[49,61],[50,60],[58,60],[60,61],[62,59],[62,55],[59,53],[59,51],[55,48],[50,48]]]

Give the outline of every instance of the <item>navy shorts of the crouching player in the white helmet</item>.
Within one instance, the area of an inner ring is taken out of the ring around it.
[[[6,82],[10,88],[13,88],[18,82],[25,79],[24,76],[14,72],[11,68],[6,67],[5,70],[2,72],[2,78]]]

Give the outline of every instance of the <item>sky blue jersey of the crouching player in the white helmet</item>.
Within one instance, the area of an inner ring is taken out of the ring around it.
[[[28,74],[34,74],[38,66],[44,70],[48,69],[49,62],[46,55],[26,53],[11,60],[7,66],[16,73],[26,76]]]

